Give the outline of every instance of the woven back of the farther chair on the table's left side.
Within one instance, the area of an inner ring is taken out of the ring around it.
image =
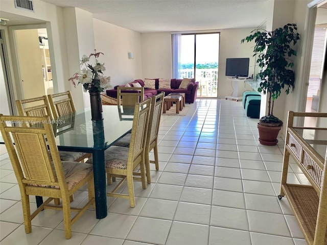
[[[49,94],[48,98],[55,118],[76,111],[71,91]]]

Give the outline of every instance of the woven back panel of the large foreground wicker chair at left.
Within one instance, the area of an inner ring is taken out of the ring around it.
[[[1,133],[17,181],[20,184],[31,185],[64,185],[64,174],[53,129],[48,123],[50,117],[4,116],[2,114],[0,117],[3,122],[0,124]],[[29,126],[31,122],[33,122],[33,127]],[[48,145],[53,161],[50,158]]]

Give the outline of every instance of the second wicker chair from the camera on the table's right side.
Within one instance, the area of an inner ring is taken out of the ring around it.
[[[146,140],[145,166],[147,173],[147,182],[151,183],[150,163],[155,164],[155,169],[159,170],[158,158],[158,132],[160,125],[160,118],[162,113],[162,106],[164,104],[165,92],[161,92],[152,97],[149,126]],[[127,134],[122,139],[115,142],[113,145],[129,147],[131,135]],[[154,161],[150,160],[149,154],[153,150]],[[114,179],[113,179],[114,180]]]

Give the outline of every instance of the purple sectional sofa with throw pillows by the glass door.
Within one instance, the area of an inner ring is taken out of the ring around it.
[[[156,89],[144,89],[144,99],[147,99],[148,97],[152,97],[153,95],[156,95],[161,92],[165,92],[165,96],[174,92],[174,93],[185,93],[185,103],[194,103],[199,88],[199,82],[195,82],[195,79],[191,79],[191,82],[189,83],[187,89],[178,89],[181,82],[182,79],[171,79],[170,89],[159,89],[159,79],[155,79]],[[144,87],[144,82],[142,79],[136,79],[129,84],[133,86],[133,83],[139,83],[141,84],[142,87]],[[125,87],[125,85],[119,85],[119,86]],[[118,86],[115,86],[114,89],[106,90],[107,95],[113,98],[117,98],[117,87]]]

